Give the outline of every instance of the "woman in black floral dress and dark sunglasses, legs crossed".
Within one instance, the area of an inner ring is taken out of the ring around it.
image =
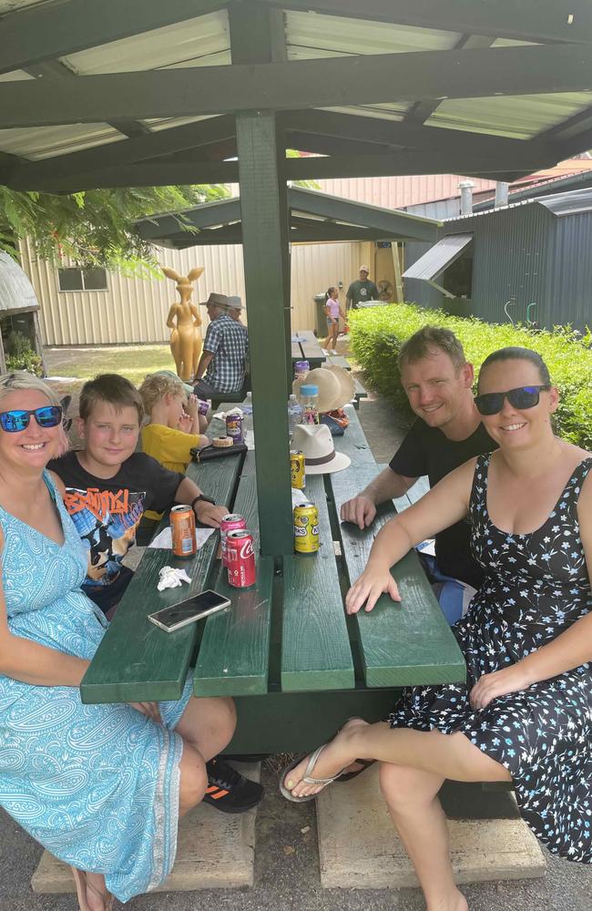
[[[489,355],[475,404],[500,448],[383,527],[346,598],[350,613],[372,610],[383,592],[401,600],[393,564],[468,517],[486,577],[453,628],[466,681],[403,691],[389,724],[348,722],[282,782],[291,799],[311,798],[356,757],[380,760],[429,911],[468,907],[436,796],[444,778],[512,781],[541,842],[592,863],[592,455],[554,435],[557,401],[537,353]]]

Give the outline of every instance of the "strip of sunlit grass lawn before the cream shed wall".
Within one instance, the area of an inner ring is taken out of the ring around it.
[[[97,374],[122,374],[142,383],[155,370],[175,370],[168,344],[113,345],[101,348],[46,348],[47,374],[90,380]]]

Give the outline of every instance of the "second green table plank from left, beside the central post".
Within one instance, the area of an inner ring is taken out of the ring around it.
[[[233,589],[225,568],[220,565],[214,572],[212,587],[232,603],[229,609],[207,620],[195,669],[196,696],[255,695],[268,689],[273,559],[259,555],[253,452],[245,459],[233,509],[247,519],[253,533],[257,585],[252,589]]]

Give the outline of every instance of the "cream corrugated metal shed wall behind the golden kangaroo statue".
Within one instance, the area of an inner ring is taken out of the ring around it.
[[[312,297],[329,285],[343,281],[345,291],[357,277],[361,262],[371,260],[373,245],[363,242],[293,244],[291,251],[292,327],[315,325]],[[195,301],[209,292],[240,294],[245,301],[242,247],[240,245],[192,247],[187,250],[157,248],[158,261],[183,275],[194,266],[205,266],[197,281]],[[40,319],[47,345],[100,345],[168,342],[168,308],[178,294],[175,282],[148,281],[120,272],[107,276],[107,291],[59,292],[57,270],[36,257],[31,244],[21,244],[21,264],[41,305]],[[64,262],[64,265],[70,265]],[[247,302],[247,322],[248,322]],[[203,311],[204,325],[208,322]]]

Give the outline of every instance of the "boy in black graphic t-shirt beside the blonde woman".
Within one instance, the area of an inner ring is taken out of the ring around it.
[[[190,503],[203,525],[219,527],[228,508],[216,506],[189,477],[168,471],[136,452],[144,410],[136,387],[117,374],[101,374],[80,394],[78,434],[85,448],[49,463],[66,485],[65,504],[87,547],[83,589],[105,613],[114,612],[133,573],[122,559],[136,542],[145,510],[164,512]],[[263,789],[218,757],[206,763],[204,802],[224,813],[259,804]]]

